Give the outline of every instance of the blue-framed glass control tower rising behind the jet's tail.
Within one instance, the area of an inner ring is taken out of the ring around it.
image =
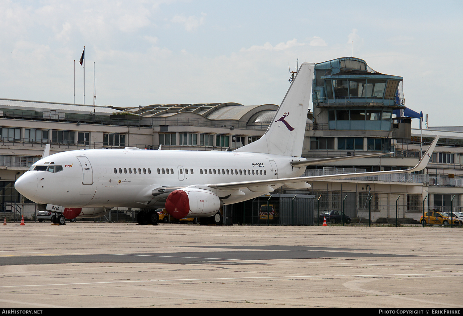
[[[355,57],[316,64],[314,124],[307,156],[389,152],[392,112],[405,109],[403,93],[399,92],[402,80],[403,77],[378,73]]]

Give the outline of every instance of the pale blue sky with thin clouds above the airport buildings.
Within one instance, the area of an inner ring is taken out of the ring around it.
[[[429,126],[461,126],[462,17],[445,0],[0,0],[0,98],[73,103],[75,86],[83,103],[84,46],[85,104],[95,66],[96,104],[127,108],[280,104],[298,60],[353,55],[403,77]]]

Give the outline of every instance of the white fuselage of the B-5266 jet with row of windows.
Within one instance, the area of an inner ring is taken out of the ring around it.
[[[156,188],[301,176],[305,168],[290,164],[297,160],[305,159],[250,152],[136,148],[69,151],[40,159],[19,177],[15,187],[39,204],[157,208],[162,202],[156,202],[152,195]],[[263,194],[241,191],[244,194],[232,194],[224,204]]]

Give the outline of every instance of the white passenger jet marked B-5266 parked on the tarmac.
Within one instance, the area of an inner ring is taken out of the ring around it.
[[[438,137],[408,170],[300,177],[305,166],[385,153],[307,160],[301,158],[307,110],[311,101],[313,63],[303,63],[275,119],[257,141],[232,152],[91,149],[60,152],[33,164],[15,183],[16,190],[39,208],[56,212],[64,224],[65,208],[142,208],[138,222],[157,224],[157,208],[175,219],[212,217],[219,209],[250,200],[276,188],[310,188],[309,181],[418,171],[425,168]],[[87,209],[85,209],[87,208]],[[95,210],[93,211],[95,212]],[[69,217],[68,217],[69,218]]]

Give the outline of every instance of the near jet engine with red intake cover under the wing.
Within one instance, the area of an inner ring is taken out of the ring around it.
[[[166,199],[166,211],[175,219],[213,216],[222,206],[217,195],[199,188],[178,189]]]

